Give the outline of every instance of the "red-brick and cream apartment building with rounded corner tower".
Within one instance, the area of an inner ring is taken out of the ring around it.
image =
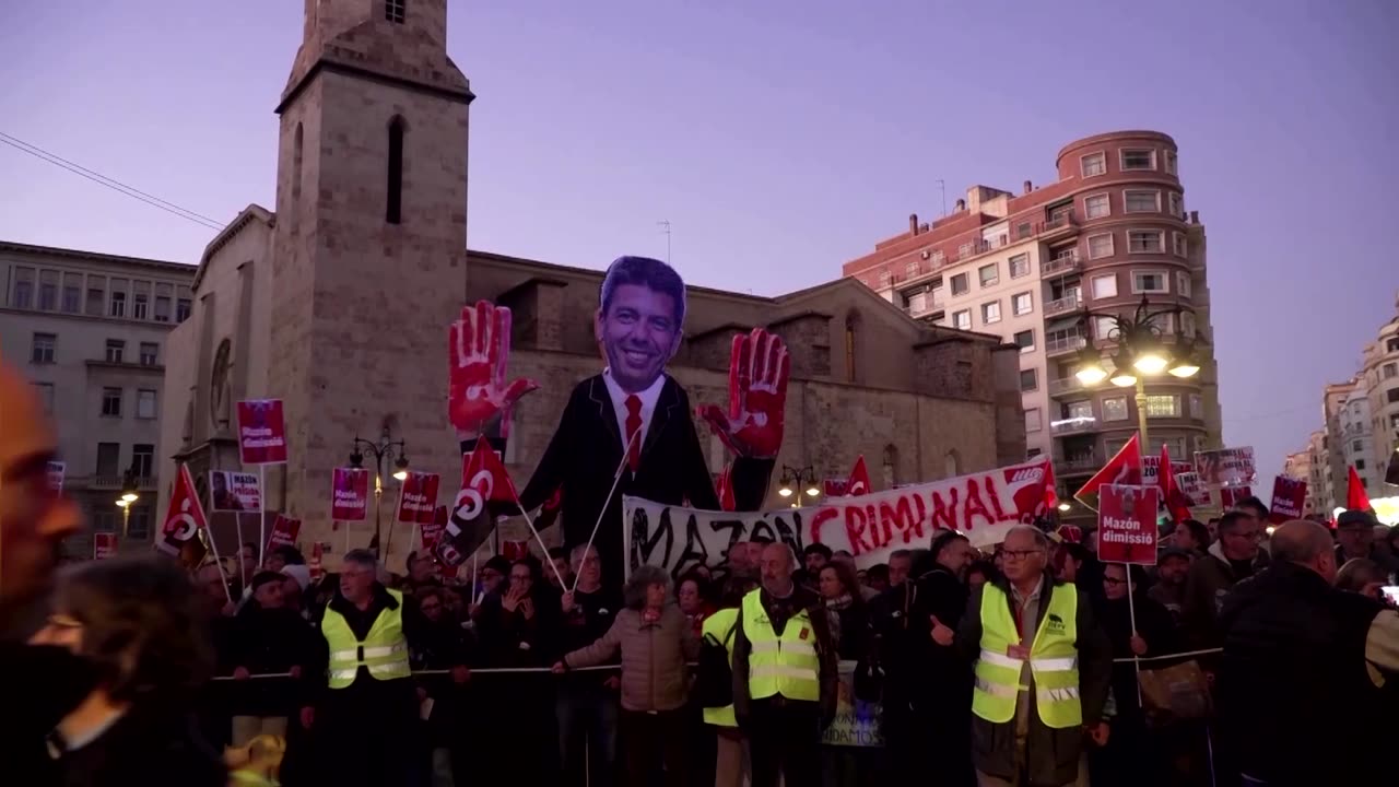
[[[1111,316],[1143,301],[1175,308],[1153,322],[1167,344],[1199,342],[1200,372],[1147,381],[1147,450],[1221,447],[1205,227],[1185,210],[1179,165],[1158,132],[1086,137],[1059,151],[1053,183],[1025,181],[1018,195],[972,186],[949,216],[909,216],[907,232],[844,274],[909,316],[1017,344],[1030,455],[1052,455],[1070,492],[1137,427],[1133,391],[1074,377],[1080,350],[1111,354]]]

